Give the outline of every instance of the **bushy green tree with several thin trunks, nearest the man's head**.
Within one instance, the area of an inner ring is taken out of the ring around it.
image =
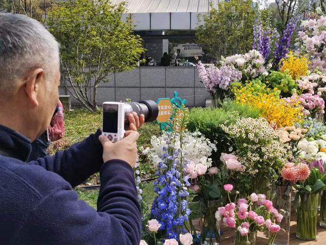
[[[122,20],[124,12],[124,2],[110,0],[71,0],[49,12],[49,31],[61,44],[64,82],[90,111],[97,110],[97,87],[108,82],[107,75],[131,70],[144,51],[140,36],[132,34],[131,19]],[[89,91],[91,81],[94,90]]]

